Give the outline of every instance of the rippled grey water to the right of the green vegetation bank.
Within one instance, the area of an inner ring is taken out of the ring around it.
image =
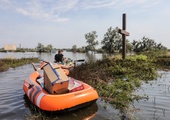
[[[160,72],[162,77],[158,80],[143,84],[141,89],[136,91],[140,95],[148,95],[148,100],[135,102],[139,112],[135,115],[140,120],[169,120],[170,118],[170,72]]]

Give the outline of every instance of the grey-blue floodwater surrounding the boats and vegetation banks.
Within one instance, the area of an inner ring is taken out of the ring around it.
[[[73,60],[88,60],[86,54],[67,53],[65,56]],[[37,53],[0,53],[0,58],[21,58],[21,57],[39,57],[43,60],[53,61],[53,54],[37,54]],[[98,59],[101,55],[98,54]],[[26,120],[36,116],[29,106],[29,100],[25,97],[22,89],[23,81],[33,72],[34,69],[30,64],[11,68],[6,72],[0,73],[0,119],[1,120]],[[143,83],[140,89],[134,94],[149,96],[148,100],[140,100],[134,102],[129,117],[137,120],[169,120],[170,119],[170,72],[160,72],[162,77],[153,80],[149,84]],[[120,120],[121,117],[118,110],[111,105],[98,99],[95,104],[86,108],[65,113],[53,114],[50,119],[57,120]],[[43,114],[43,113],[42,113]],[[36,117],[32,118],[36,119]]]

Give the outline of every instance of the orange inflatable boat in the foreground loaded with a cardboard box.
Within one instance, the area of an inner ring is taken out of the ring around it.
[[[24,80],[23,90],[30,101],[45,111],[76,109],[98,99],[90,85],[68,77],[57,65],[46,64],[43,74],[34,71]]]

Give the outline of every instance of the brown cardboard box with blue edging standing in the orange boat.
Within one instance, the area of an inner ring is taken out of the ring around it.
[[[63,94],[68,90],[68,76],[58,64],[47,63],[44,67],[44,89],[50,94]]]

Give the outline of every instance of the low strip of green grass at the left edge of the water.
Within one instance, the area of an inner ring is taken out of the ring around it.
[[[17,66],[29,64],[32,62],[38,62],[38,58],[21,58],[21,59],[11,59],[11,58],[4,58],[0,59],[0,72],[8,70],[10,67],[15,68]]]

